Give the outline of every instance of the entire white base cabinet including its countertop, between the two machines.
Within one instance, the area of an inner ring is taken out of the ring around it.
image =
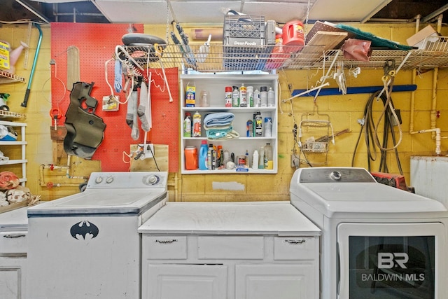
[[[318,299],[320,230],[289,202],[167,203],[141,225],[142,299]]]

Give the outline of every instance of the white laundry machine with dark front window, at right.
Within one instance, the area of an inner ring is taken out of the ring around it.
[[[448,211],[363,168],[297,169],[291,203],[322,230],[321,299],[444,299]]]

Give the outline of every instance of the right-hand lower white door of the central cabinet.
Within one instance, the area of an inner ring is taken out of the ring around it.
[[[314,263],[282,265],[237,265],[236,299],[318,298]]]

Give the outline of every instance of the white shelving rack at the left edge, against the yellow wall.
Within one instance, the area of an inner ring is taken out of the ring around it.
[[[17,140],[15,141],[1,141],[0,140],[0,150],[4,148],[4,146],[20,146],[20,159],[9,159],[8,161],[0,161],[0,169],[7,170],[8,165],[22,165],[22,174],[16,174],[20,179],[20,184],[25,186],[25,182],[27,181],[27,159],[26,159],[26,146],[27,141],[25,139],[25,128],[27,127],[26,123],[17,123],[13,121],[0,120],[0,125],[6,125],[10,127],[20,128],[20,134]],[[2,170],[2,171],[3,171]]]

